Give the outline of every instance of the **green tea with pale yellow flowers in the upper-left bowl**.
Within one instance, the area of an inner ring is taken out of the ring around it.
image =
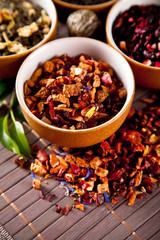
[[[51,20],[44,9],[28,1],[0,2],[0,56],[22,53],[42,41]]]

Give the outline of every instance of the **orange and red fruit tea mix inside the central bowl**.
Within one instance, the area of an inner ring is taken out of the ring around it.
[[[82,54],[45,62],[26,81],[24,95],[36,117],[75,130],[111,119],[123,107],[127,91],[109,64]]]

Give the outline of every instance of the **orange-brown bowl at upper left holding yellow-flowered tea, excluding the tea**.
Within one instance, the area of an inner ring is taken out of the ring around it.
[[[46,0],[31,0],[30,2],[34,5],[39,5],[41,8],[46,10],[47,14],[51,19],[50,31],[41,42],[39,42],[34,47],[28,49],[27,51],[19,54],[0,56],[0,80],[7,78],[15,78],[20,65],[22,64],[23,60],[28,56],[28,54],[33,52],[38,47],[42,46],[44,43],[53,40],[56,37],[57,12],[52,0],[47,0],[47,4]]]

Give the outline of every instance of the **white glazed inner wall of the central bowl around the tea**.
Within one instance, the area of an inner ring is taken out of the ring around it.
[[[23,105],[25,111],[28,114],[33,115],[25,104],[23,85],[26,80],[30,79],[31,75],[38,68],[38,66],[56,55],[60,56],[62,54],[68,54],[69,56],[77,56],[82,53],[86,53],[92,56],[95,60],[102,59],[106,61],[115,70],[118,78],[123,82],[124,87],[127,90],[126,102],[121,111],[115,117],[117,118],[121,112],[125,110],[134,92],[134,77],[127,61],[113,48],[98,40],[82,37],[70,37],[57,39],[43,45],[32,54],[30,54],[20,67],[16,80],[16,92],[18,100]],[[35,121],[47,125],[46,123],[42,123],[42,121],[36,118],[34,115],[32,117]],[[104,124],[111,123],[115,117]],[[96,128],[100,126],[97,126]],[[50,126],[50,128],[54,129],[56,127]],[[60,131],[61,130],[76,132],[83,131],[60,129]],[[89,129],[85,129],[85,131],[89,131]]]

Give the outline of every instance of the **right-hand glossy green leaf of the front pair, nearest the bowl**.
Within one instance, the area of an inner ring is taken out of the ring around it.
[[[13,120],[13,119],[12,119]],[[17,143],[22,154],[30,157],[30,147],[25,136],[23,126],[20,122],[13,120],[9,127],[9,133],[12,139]]]

